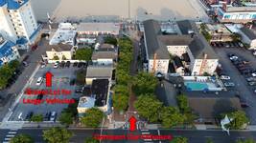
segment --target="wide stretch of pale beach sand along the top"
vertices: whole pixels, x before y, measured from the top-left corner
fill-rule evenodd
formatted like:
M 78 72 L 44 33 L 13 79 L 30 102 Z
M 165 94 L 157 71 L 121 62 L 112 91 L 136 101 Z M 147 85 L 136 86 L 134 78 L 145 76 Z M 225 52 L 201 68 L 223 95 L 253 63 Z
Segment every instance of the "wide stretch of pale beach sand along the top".
M 49 12 L 55 21 L 114 19 L 204 19 L 197 0 L 32 0 L 38 20 Z

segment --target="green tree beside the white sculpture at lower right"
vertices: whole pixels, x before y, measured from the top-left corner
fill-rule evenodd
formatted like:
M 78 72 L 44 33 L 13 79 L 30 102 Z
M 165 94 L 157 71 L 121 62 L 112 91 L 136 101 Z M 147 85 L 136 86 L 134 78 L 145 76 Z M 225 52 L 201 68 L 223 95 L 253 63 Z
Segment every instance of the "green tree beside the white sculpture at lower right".
M 228 128 L 244 129 L 244 126 L 249 122 L 249 119 L 247 118 L 245 112 L 243 111 L 223 113 L 221 116 L 224 117 L 225 114 L 227 114 L 229 118 L 234 119 L 233 121 L 231 121 L 229 125 L 227 125 Z

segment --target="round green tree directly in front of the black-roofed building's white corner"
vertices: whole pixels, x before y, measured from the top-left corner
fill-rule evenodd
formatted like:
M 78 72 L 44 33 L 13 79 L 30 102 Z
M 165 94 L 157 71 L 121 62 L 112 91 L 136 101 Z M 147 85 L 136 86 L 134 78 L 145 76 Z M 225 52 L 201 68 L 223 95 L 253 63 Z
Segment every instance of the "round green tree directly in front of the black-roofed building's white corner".
M 81 124 L 86 127 L 97 128 L 100 126 L 104 115 L 104 112 L 99 109 L 91 108 L 85 112 L 84 116 L 81 117 Z

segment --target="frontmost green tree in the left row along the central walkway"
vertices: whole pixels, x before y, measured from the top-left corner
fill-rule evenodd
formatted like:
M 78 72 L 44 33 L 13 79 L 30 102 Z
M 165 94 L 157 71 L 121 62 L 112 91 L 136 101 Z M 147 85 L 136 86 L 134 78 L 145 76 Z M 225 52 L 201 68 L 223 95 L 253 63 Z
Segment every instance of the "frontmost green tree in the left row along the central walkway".
M 113 96 L 113 106 L 119 112 L 124 112 L 128 109 L 128 95 L 115 94 Z

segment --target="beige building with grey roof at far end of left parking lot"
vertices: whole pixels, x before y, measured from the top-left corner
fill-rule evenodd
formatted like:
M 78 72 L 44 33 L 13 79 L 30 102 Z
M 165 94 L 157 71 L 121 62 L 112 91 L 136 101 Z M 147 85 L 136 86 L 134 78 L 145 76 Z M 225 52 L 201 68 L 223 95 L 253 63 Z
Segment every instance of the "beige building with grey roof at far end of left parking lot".
M 58 60 L 71 60 L 75 52 L 75 47 L 71 45 L 58 44 L 51 46 L 51 50 L 46 51 L 48 60 L 58 57 Z

